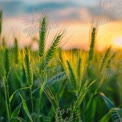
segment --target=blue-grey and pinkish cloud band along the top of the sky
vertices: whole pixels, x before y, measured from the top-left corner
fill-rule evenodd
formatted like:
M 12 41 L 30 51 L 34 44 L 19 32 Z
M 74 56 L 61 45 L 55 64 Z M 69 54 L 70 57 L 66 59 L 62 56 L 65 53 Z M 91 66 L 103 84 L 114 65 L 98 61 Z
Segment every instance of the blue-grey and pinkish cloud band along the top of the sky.
M 118 6 L 106 9 L 105 6 L 110 3 L 104 3 L 103 6 L 96 6 L 96 0 L 91 2 L 73 2 L 71 1 L 58 1 L 56 0 L 36 0 L 35 2 L 29 2 L 27 0 L 24 2 L 23 0 L 19 1 L 1 1 L 0 8 L 3 9 L 4 14 L 7 17 L 11 16 L 22 16 L 25 14 L 42 14 L 46 11 L 47 14 L 51 18 L 54 18 L 57 21 L 65 21 L 65 20 L 82 20 L 80 17 L 81 13 L 84 16 L 105 16 L 112 20 L 121 20 L 122 19 L 122 9 Z M 121 6 L 121 3 L 119 3 Z M 87 5 L 87 6 L 84 6 Z M 94 6 L 93 6 L 94 5 Z M 114 4 L 115 5 L 115 4 Z M 117 6 L 117 5 L 116 5 Z M 62 14 L 63 13 L 63 14 Z

